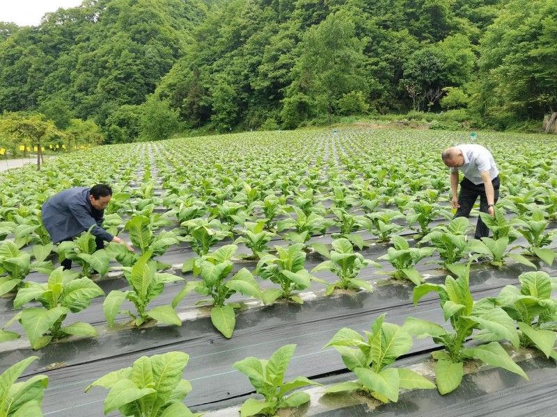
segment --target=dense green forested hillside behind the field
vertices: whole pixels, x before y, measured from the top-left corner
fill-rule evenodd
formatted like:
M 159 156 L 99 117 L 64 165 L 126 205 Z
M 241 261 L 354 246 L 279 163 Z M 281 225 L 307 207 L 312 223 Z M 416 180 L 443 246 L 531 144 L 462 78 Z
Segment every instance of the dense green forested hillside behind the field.
M 91 0 L 0 29 L 0 111 L 92 119 L 107 142 L 557 110 L 557 0 Z

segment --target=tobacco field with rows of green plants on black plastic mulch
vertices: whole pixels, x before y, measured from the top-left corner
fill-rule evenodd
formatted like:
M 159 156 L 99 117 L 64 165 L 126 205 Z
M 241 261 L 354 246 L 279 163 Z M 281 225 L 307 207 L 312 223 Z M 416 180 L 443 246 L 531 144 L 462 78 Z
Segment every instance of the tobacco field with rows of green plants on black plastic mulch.
M 480 133 L 482 240 L 441 161 L 467 141 L 253 132 L 1 173 L 0 416 L 552 414 L 557 140 Z M 135 252 L 50 242 L 42 204 L 95 183 Z

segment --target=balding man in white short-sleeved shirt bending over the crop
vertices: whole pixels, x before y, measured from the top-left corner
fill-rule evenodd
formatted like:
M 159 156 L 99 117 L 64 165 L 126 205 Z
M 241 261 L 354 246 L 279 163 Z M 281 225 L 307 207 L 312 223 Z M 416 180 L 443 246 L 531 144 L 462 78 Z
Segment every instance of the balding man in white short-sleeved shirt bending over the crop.
M 450 167 L 451 204 L 457 209 L 455 218 L 468 217 L 476 199 L 480 196 L 480 211 L 495 217 L 495 203 L 499 199 L 499 170 L 492 154 L 481 145 L 457 145 L 445 149 L 441 154 L 445 165 Z M 458 190 L 458 170 L 464 174 Z M 476 234 L 480 239 L 489 236 L 489 229 L 478 218 Z

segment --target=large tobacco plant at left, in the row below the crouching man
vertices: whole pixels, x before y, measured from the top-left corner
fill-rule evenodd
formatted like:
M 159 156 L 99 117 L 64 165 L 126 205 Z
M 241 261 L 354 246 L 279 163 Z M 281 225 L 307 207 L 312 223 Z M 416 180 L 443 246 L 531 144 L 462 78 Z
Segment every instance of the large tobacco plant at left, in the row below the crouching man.
M 79 313 L 91 304 L 93 298 L 104 295 L 104 291 L 91 279 L 78 276 L 77 272 L 59 267 L 52 271 L 46 284 L 27 282 L 17 292 L 14 308 L 20 309 L 31 300 L 37 300 L 43 308 L 29 307 L 19 311 L 5 327 L 19 320 L 33 349 L 45 347 L 51 341 L 70 334 L 97 336 L 95 328 L 88 323 L 62 325 L 68 313 Z

